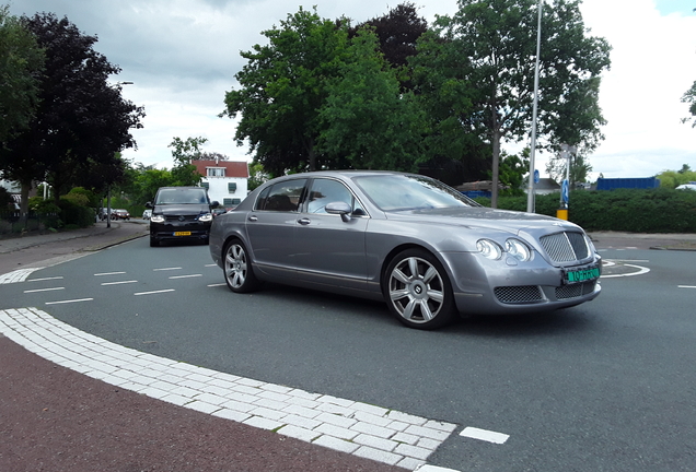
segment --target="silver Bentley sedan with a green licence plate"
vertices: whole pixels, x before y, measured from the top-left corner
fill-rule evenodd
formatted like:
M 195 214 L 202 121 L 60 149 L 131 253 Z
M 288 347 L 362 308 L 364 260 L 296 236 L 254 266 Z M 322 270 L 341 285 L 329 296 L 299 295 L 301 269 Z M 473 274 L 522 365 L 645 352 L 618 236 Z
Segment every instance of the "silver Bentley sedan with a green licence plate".
M 210 255 L 232 292 L 268 281 L 383 299 L 419 329 L 570 307 L 601 291 L 602 259 L 578 225 L 484 208 L 395 172 L 269 180 L 213 220 Z

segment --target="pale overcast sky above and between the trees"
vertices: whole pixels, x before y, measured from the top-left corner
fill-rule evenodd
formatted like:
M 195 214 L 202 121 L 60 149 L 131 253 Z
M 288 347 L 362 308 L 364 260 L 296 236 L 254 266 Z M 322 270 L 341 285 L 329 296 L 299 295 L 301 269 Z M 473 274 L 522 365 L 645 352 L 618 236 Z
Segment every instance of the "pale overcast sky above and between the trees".
M 0 0 L 0 3 L 7 2 Z M 137 150 L 124 156 L 172 167 L 174 137 L 205 137 L 205 151 L 251 160 L 235 145 L 235 122 L 218 118 L 224 93 L 244 66 L 240 51 L 264 43 L 260 32 L 279 25 L 302 5 L 325 19 L 355 23 L 381 16 L 401 0 L 11 0 L 12 14 L 53 12 L 83 33 L 123 71 L 124 96 L 146 108 L 144 128 L 134 130 Z M 453 14 L 456 0 L 414 0 L 429 22 Z M 696 169 L 696 129 L 683 125 L 680 98 L 696 81 L 696 0 L 584 0 L 591 34 L 612 45 L 600 104 L 608 125 L 605 141 L 590 156 L 593 175 L 647 177 L 664 169 Z M 531 32 L 531 34 L 536 34 Z M 543 47 L 543 44 L 542 44 Z M 514 152 L 515 149 L 510 148 Z M 545 156 L 537 157 L 544 173 Z

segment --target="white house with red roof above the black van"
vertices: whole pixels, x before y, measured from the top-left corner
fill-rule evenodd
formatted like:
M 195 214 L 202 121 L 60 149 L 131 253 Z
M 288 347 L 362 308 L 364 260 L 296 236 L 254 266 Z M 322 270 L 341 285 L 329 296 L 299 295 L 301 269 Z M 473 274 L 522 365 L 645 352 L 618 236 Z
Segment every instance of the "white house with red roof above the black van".
M 208 189 L 210 200 L 217 200 L 225 209 L 232 209 L 246 198 L 248 164 L 239 161 L 193 161 L 202 176 L 201 187 Z

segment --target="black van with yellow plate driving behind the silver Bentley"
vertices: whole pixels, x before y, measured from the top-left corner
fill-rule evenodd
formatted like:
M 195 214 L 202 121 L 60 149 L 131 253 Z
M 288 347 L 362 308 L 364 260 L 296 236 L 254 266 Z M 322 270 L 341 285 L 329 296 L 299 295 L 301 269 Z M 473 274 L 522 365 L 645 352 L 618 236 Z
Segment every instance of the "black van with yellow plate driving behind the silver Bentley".
M 146 203 L 146 208 L 152 209 L 150 246 L 159 246 L 165 239 L 208 244 L 211 211 L 218 205 L 217 201 L 210 201 L 202 187 L 161 187 L 154 203 Z

